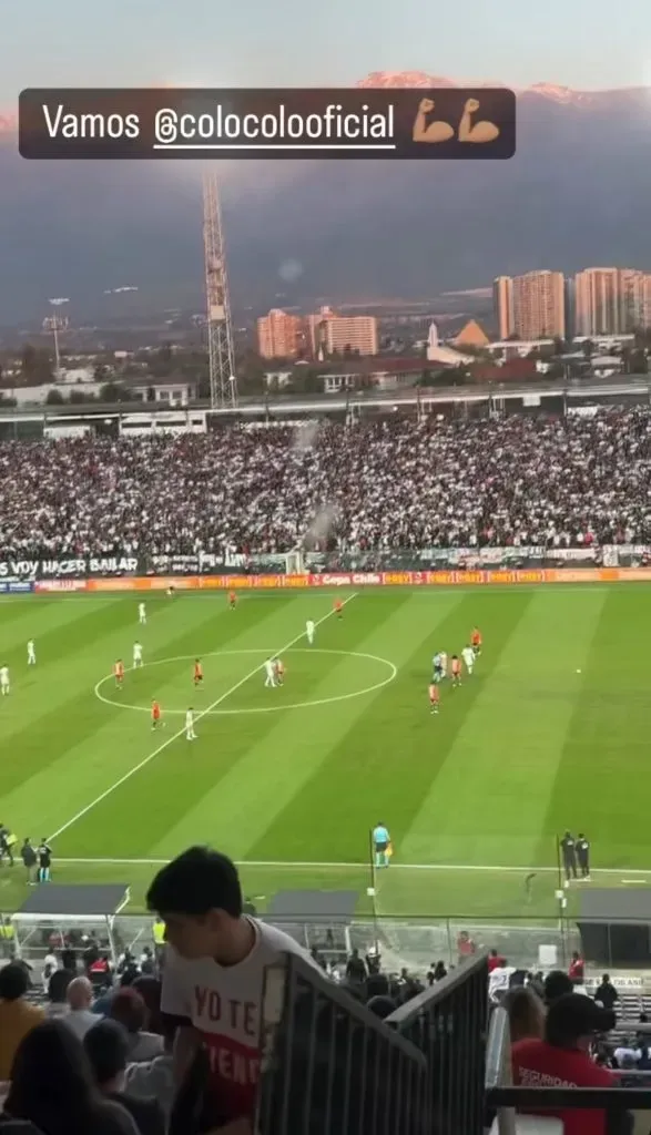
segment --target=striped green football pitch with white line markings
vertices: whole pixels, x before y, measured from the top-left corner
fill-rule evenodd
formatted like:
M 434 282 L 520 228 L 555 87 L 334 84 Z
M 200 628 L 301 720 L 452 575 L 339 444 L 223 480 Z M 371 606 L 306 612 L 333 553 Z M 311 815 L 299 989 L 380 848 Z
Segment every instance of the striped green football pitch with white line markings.
M 359 892 L 360 914 L 551 918 L 566 827 L 592 841 L 593 883 L 651 881 L 650 588 L 337 596 L 341 620 L 326 589 L 250 592 L 235 611 L 214 592 L 1 598 L 0 821 L 51 838 L 57 882 L 128 883 L 133 910 L 157 864 L 198 842 L 241 865 L 261 909 L 319 888 Z M 476 671 L 444 683 L 434 717 L 432 656 L 460 654 L 475 625 Z M 281 689 L 264 684 L 270 654 Z M 394 857 L 373 900 L 378 822 Z M 19 863 L 3 865 L 0 910 L 26 893 Z

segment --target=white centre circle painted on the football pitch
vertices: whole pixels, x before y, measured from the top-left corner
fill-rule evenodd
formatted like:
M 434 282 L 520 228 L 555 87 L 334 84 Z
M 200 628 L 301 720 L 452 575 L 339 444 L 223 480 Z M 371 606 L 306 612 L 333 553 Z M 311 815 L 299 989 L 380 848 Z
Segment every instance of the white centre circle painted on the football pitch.
M 384 666 L 385 670 L 387 671 L 387 674 L 385 678 L 382 679 L 382 681 L 374 682 L 372 686 L 365 686 L 360 690 L 351 690 L 349 693 L 336 693 L 327 698 L 314 698 L 311 700 L 306 700 L 306 701 L 295 701 L 292 704 L 283 703 L 281 705 L 272 705 L 272 706 L 241 706 L 234 709 L 217 708 L 216 707 L 217 701 L 219 700 L 226 701 L 229 695 L 241 689 L 241 687 L 244 686 L 249 679 L 252 681 L 258 673 L 261 674 L 265 665 L 265 663 L 261 662 L 260 665 L 256 667 L 254 671 L 251 671 L 250 674 L 244 676 L 244 679 L 240 679 L 240 681 L 236 682 L 231 690 L 224 690 L 223 693 L 220 695 L 220 698 L 216 698 L 215 703 L 212 703 L 212 705 L 215 705 L 215 708 L 211 708 L 210 706 L 207 709 L 199 708 L 197 709 L 197 716 L 226 717 L 226 716 L 236 716 L 243 714 L 279 713 L 283 709 L 308 709 L 310 707 L 331 705 L 332 703 L 335 701 L 350 701 L 352 698 L 361 698 L 366 693 L 375 693 L 376 690 L 381 690 L 383 689 L 383 687 L 389 686 L 390 682 L 392 682 L 398 675 L 398 666 L 395 666 L 387 658 L 381 658 L 378 655 L 375 654 L 362 654 L 357 650 L 325 650 L 318 647 L 303 647 L 303 648 L 290 647 L 287 650 L 282 650 L 279 653 L 283 654 L 285 657 L 295 654 L 331 654 L 331 655 L 339 655 L 342 658 L 361 658 L 366 662 L 372 662 L 375 663 L 376 665 Z M 203 654 L 200 653 L 200 655 L 182 654 L 173 658 L 157 658 L 153 662 L 143 663 L 142 666 L 137 667 L 135 666 L 125 667 L 125 673 L 133 674 L 136 671 L 140 673 L 140 671 L 143 670 L 151 670 L 153 666 L 166 666 L 176 662 L 194 662 L 194 659 L 199 656 L 202 658 L 220 658 L 234 655 L 258 655 L 258 656 L 264 656 L 265 658 L 269 658 L 276 656 L 277 654 L 278 654 L 277 650 L 261 650 L 261 649 L 209 650 Z M 102 693 L 102 687 L 106 686 L 107 682 L 110 682 L 111 679 L 112 674 L 107 674 L 105 678 L 101 678 L 99 682 L 97 682 L 93 692 L 99 701 L 103 701 L 105 705 L 109 706 L 118 706 L 118 708 L 120 709 L 133 709 L 137 713 L 149 714 L 151 712 L 150 706 L 132 705 L 130 703 L 123 701 L 122 699 L 110 698 L 107 697 L 105 693 Z M 164 712 L 166 716 L 185 716 L 185 709 L 166 709 L 164 707 Z

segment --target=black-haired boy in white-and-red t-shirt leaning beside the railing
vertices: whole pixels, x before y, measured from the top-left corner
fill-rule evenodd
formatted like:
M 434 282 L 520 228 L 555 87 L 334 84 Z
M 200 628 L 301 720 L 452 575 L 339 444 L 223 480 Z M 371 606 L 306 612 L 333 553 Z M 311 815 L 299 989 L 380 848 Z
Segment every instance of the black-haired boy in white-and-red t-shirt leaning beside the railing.
M 161 1011 L 178 1026 L 177 1084 L 198 1048 L 210 1067 L 215 1127 L 253 1117 L 265 972 L 284 953 L 315 966 L 292 938 L 243 914 L 235 865 L 190 848 L 153 880 L 147 902 L 166 924 Z

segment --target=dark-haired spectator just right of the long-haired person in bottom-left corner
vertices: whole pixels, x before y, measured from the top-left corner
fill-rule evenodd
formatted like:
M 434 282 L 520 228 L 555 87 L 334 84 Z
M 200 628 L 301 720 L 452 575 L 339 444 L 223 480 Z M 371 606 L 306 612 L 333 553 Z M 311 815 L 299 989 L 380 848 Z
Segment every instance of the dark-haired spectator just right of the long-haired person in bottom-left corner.
M 149 1099 L 132 1096 L 125 1090 L 130 1041 L 123 1025 L 117 1020 L 98 1022 L 86 1033 L 84 1048 L 102 1095 L 122 1103 L 141 1135 L 165 1135 L 165 1117 L 158 1100 L 153 1095 Z

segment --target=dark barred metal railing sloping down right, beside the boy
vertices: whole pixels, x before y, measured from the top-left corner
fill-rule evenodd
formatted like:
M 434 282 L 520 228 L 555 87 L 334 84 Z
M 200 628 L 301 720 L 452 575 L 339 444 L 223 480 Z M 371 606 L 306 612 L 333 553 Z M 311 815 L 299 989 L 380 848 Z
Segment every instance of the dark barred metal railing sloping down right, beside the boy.
M 267 970 L 260 1049 L 260 1135 L 432 1132 L 423 1051 L 293 955 Z

